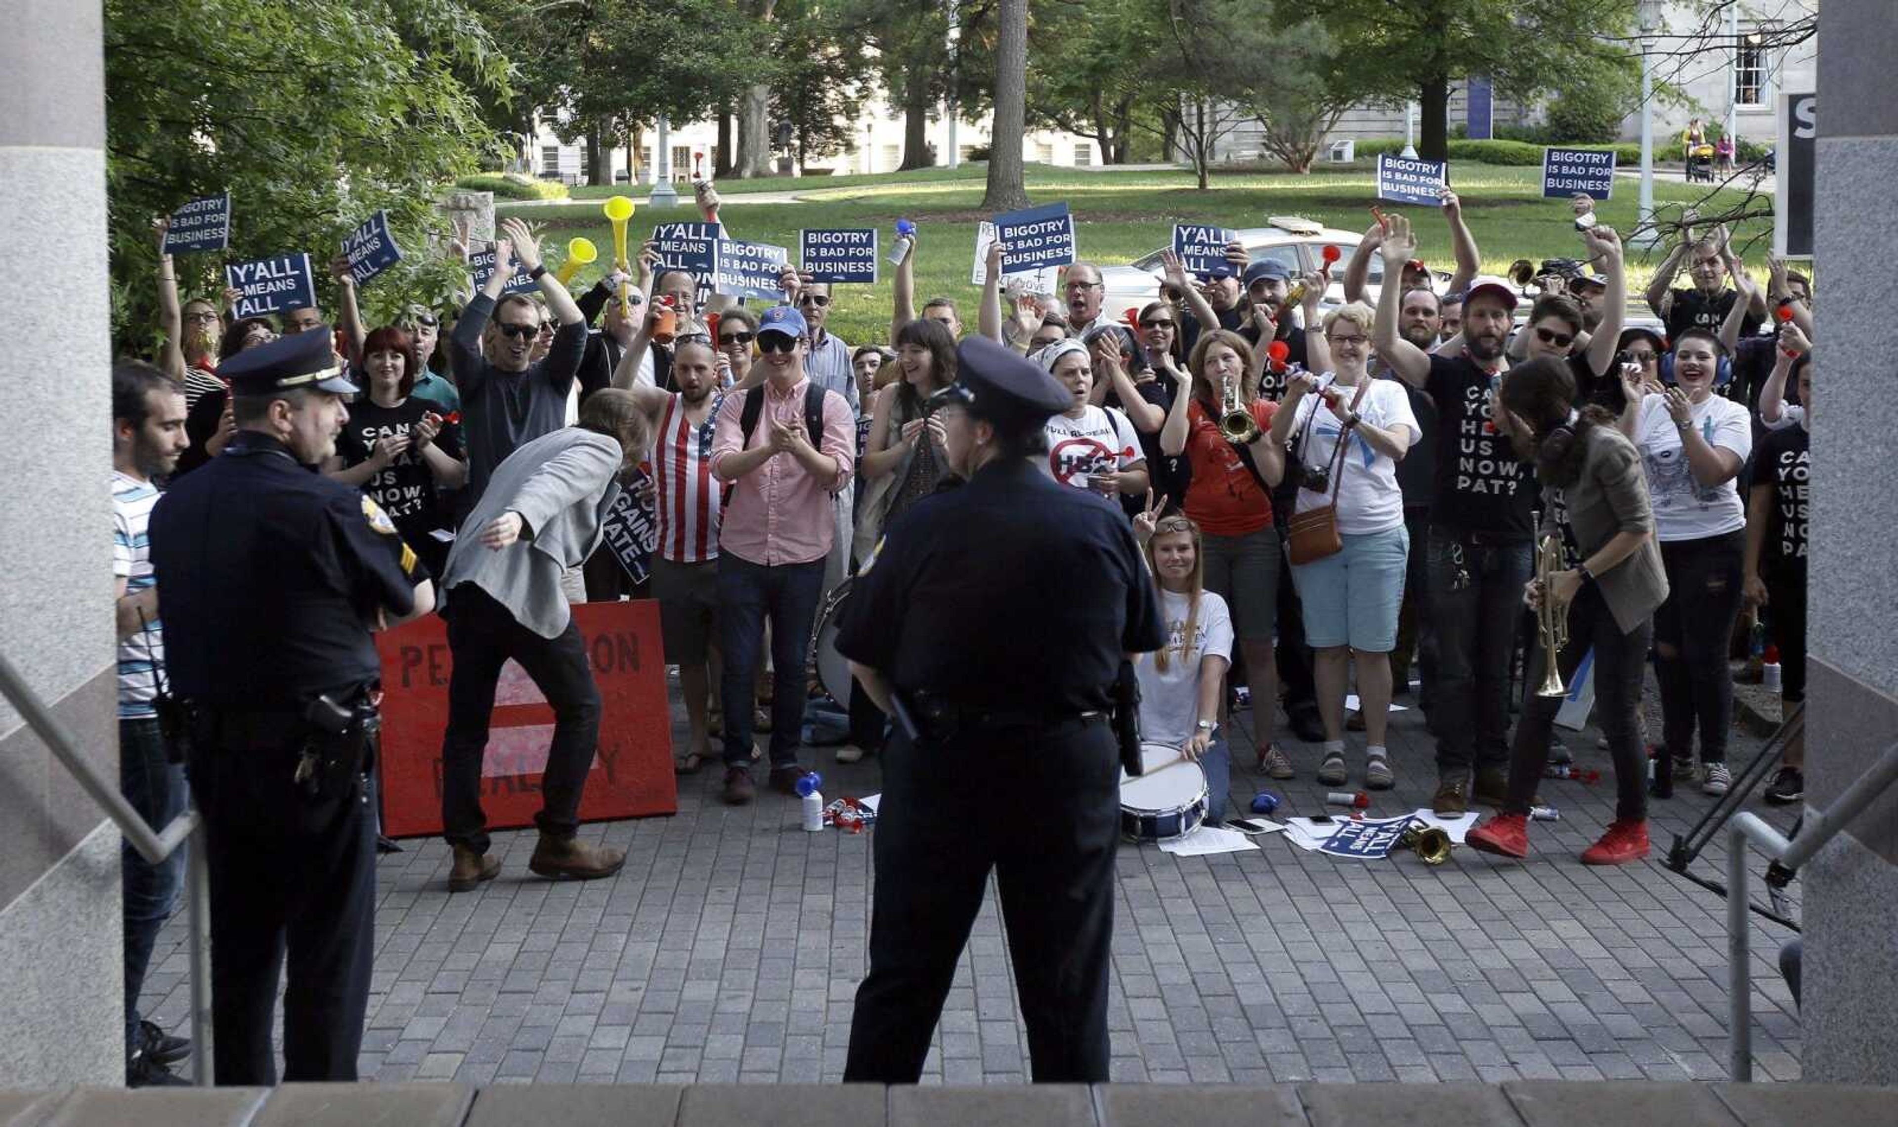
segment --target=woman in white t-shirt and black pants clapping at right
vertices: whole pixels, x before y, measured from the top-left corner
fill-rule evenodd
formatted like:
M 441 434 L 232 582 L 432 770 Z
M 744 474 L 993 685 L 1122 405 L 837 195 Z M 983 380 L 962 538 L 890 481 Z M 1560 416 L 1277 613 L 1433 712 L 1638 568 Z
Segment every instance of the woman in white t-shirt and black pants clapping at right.
M 1663 744 L 1672 759 L 1663 770 L 1668 780 L 1674 770 L 1691 770 L 1699 727 L 1701 789 L 1708 795 L 1725 795 L 1733 785 L 1727 639 L 1740 613 L 1746 560 L 1746 508 L 1735 476 L 1754 448 L 1746 406 L 1714 395 L 1723 357 L 1712 332 L 1682 332 L 1674 342 L 1674 387 L 1655 391 L 1625 378 L 1628 406 L 1621 412 L 1621 433 L 1634 440 L 1647 471 L 1668 584 L 1668 598 L 1655 611 Z

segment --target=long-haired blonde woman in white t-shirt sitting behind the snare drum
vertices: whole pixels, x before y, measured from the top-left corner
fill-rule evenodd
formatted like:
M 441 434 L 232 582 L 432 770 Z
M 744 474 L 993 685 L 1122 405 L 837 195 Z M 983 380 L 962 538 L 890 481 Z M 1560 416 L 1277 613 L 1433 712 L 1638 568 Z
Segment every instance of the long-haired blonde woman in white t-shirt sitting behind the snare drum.
M 1133 535 L 1146 550 L 1146 567 L 1167 626 L 1165 647 L 1133 660 L 1141 681 L 1141 738 L 1169 744 L 1205 770 L 1205 823 L 1226 820 L 1232 753 L 1219 732 L 1219 706 L 1232 664 L 1232 615 L 1226 600 L 1205 590 L 1200 526 L 1186 516 L 1160 516 L 1148 507 L 1133 518 Z

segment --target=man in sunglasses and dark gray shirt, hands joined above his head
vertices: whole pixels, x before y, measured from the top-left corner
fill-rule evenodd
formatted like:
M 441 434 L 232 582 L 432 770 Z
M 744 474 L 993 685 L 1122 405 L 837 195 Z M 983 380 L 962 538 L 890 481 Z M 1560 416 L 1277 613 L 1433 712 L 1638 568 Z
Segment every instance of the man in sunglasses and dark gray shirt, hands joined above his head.
M 501 220 L 501 235 L 488 285 L 474 294 L 448 338 L 456 389 L 461 393 L 469 505 L 480 501 L 488 476 L 514 448 L 568 425 L 568 395 L 586 353 L 586 319 L 554 271 L 541 264 L 541 241 L 518 218 Z M 501 296 L 516 260 L 541 286 L 558 323 L 539 360 L 533 353 L 541 338 L 541 307 L 526 294 Z

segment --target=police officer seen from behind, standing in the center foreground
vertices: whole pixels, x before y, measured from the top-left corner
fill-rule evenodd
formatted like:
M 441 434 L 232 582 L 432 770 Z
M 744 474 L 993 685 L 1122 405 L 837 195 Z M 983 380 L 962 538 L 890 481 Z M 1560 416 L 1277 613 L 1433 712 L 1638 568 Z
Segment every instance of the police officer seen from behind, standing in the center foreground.
M 934 406 L 968 484 L 888 527 L 837 636 L 898 717 L 845 1080 L 922 1074 L 995 871 L 1033 1078 L 1105 1081 L 1120 841 L 1107 713 L 1126 656 L 1160 649 L 1160 611 L 1120 508 L 1034 461 L 1067 391 L 989 340 L 962 342 L 957 359 L 960 378 Z

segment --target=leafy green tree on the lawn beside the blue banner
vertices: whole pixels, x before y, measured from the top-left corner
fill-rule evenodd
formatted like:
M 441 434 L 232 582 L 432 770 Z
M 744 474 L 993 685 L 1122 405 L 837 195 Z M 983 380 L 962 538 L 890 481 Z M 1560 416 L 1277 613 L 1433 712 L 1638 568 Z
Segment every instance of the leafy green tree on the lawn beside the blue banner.
M 1334 51 L 1329 85 L 1357 101 L 1422 106 L 1418 154 L 1446 159 L 1450 85 L 1488 78 L 1505 97 L 1558 91 L 1627 59 L 1615 40 L 1636 0 L 1275 0 L 1281 19 L 1317 13 Z M 1625 42 L 1625 40 L 1623 40 Z

